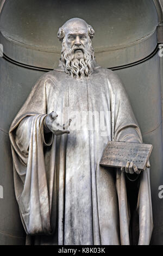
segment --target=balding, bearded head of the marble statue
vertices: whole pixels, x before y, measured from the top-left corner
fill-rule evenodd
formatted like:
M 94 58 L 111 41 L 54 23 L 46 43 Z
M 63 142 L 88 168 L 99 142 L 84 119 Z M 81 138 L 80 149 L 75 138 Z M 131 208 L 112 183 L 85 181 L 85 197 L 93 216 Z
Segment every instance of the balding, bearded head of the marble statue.
M 93 28 L 84 20 L 73 18 L 59 28 L 62 41 L 61 63 L 65 72 L 73 77 L 89 76 L 93 70 Z

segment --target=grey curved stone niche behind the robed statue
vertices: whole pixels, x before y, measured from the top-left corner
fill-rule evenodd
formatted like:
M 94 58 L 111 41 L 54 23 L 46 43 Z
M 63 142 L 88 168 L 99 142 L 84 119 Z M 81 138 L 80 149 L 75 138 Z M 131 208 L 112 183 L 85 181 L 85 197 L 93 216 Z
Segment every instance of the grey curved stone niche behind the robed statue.
M 6 0 L 1 1 L 0 40 L 0 244 L 22 245 L 26 234 L 14 193 L 8 130 L 36 80 L 58 65 L 58 28 L 80 17 L 95 29 L 97 62 L 115 70 L 132 102 L 143 141 L 153 144 L 151 190 L 154 230 L 151 243 L 163 244 L 161 72 L 157 27 L 161 1 Z M 161 60 L 162 61 L 162 60 Z M 162 64 L 161 64 L 162 65 Z M 162 66 L 161 66 L 162 67 Z

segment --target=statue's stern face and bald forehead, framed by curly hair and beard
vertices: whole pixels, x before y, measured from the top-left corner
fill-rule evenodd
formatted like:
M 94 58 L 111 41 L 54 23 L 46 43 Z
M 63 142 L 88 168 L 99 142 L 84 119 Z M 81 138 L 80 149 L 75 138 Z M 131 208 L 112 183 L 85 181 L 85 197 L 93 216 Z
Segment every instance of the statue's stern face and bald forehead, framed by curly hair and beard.
M 74 52 L 77 59 L 83 58 L 84 50 L 87 50 L 89 35 L 84 22 L 68 24 L 65 27 L 65 42 L 67 50 Z

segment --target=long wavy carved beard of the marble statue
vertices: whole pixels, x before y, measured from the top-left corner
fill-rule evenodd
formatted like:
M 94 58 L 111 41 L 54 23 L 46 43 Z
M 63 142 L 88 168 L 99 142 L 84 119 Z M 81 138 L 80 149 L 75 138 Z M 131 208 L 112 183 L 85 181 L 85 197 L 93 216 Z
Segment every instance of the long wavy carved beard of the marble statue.
M 81 78 L 83 76 L 90 76 L 93 71 L 94 50 L 92 48 L 91 39 L 89 40 L 87 50 L 82 47 L 83 58 L 76 58 L 74 56 L 74 48 L 66 49 L 65 38 L 62 41 L 61 62 L 65 72 L 73 77 Z M 80 47 L 81 48 L 81 47 Z

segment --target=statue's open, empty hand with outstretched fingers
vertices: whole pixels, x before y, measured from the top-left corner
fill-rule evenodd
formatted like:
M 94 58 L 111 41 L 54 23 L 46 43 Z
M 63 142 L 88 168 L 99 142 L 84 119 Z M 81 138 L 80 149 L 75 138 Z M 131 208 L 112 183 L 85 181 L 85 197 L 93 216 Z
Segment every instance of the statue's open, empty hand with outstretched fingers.
M 60 125 L 59 123 L 57 123 L 57 117 L 58 114 L 56 112 L 51 112 L 50 114 L 48 114 L 45 118 L 46 128 L 48 128 L 49 131 L 53 132 L 55 135 L 70 133 L 68 127 L 70 126 L 71 119 L 69 119 L 66 124 Z

